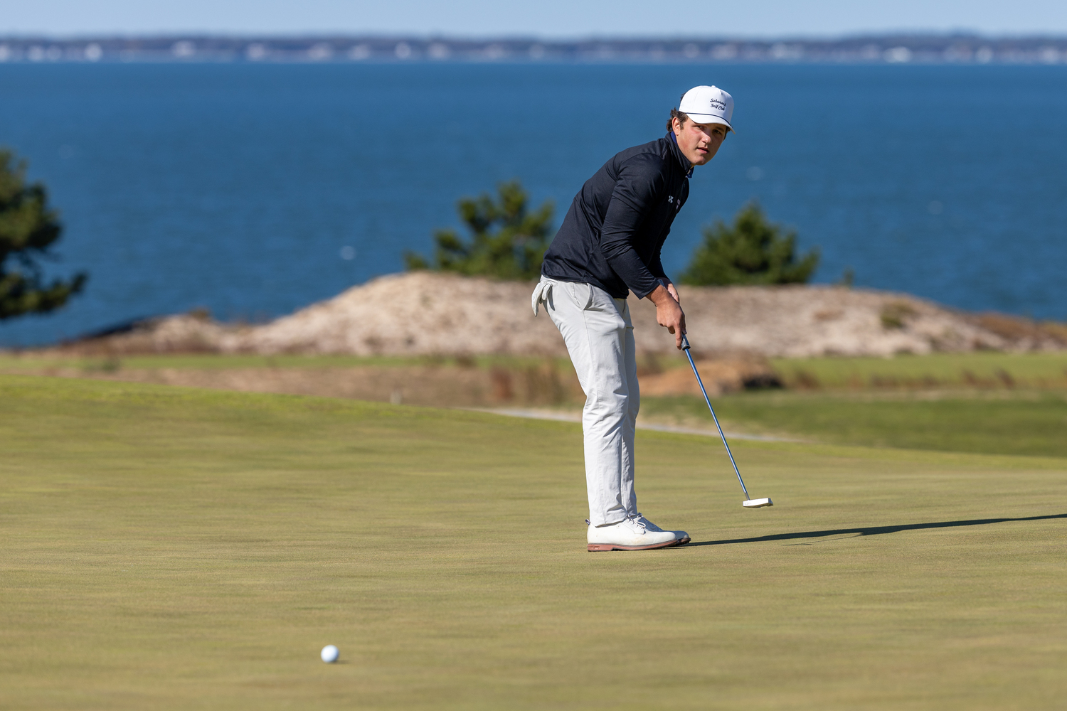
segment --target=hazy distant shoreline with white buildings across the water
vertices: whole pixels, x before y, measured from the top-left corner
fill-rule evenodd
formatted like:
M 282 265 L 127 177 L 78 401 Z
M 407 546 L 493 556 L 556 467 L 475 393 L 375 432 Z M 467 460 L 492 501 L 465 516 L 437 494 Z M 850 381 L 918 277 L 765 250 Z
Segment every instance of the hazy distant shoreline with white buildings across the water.
M 1067 35 L 869 34 L 815 37 L 426 35 L 84 35 L 0 37 L 0 63 L 827 63 L 1067 64 Z

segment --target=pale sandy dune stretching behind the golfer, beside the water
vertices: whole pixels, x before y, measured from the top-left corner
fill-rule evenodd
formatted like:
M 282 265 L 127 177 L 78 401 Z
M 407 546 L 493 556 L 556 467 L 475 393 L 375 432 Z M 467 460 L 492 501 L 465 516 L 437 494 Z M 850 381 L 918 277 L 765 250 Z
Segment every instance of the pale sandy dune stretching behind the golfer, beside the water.
M 260 326 L 174 316 L 68 349 L 108 353 L 218 352 L 352 355 L 566 355 L 531 284 L 453 274 L 394 274 Z M 1067 326 L 975 314 L 908 294 L 828 286 L 687 287 L 694 349 L 761 356 L 870 355 L 1067 348 Z M 666 354 L 673 338 L 655 308 L 631 296 L 638 352 Z

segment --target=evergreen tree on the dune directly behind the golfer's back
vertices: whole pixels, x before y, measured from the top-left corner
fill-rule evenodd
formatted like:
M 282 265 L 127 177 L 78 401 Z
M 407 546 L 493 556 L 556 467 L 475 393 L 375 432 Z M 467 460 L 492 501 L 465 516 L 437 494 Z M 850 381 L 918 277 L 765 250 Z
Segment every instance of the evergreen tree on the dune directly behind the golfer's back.
M 457 211 L 471 232 L 463 241 L 455 230 L 433 233 L 437 248 L 434 262 L 419 254 L 404 253 L 409 270 L 432 269 L 439 272 L 493 276 L 498 279 L 536 279 L 548 248 L 553 205 L 545 201 L 537 211 L 526 211 L 526 191 L 517 180 L 497 185 L 498 199 L 487 193 L 477 198 L 464 197 Z M 495 231 L 491 231 L 497 226 Z

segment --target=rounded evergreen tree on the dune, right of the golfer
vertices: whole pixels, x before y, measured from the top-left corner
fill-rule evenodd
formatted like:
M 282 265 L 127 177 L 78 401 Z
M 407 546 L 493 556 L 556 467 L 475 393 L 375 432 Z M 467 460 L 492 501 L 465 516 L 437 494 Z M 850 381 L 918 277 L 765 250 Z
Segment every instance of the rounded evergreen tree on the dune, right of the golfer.
M 799 260 L 797 235 L 767 222 L 757 203 L 749 203 L 728 227 L 721 220 L 704 228 L 704 241 L 692 253 L 682 284 L 803 284 L 818 265 L 818 249 Z

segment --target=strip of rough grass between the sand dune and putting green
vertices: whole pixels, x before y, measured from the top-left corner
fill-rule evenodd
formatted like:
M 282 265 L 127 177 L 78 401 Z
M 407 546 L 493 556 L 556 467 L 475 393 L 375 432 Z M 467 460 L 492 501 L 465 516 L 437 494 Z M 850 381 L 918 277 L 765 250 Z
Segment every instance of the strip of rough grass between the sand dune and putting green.
M 688 370 L 688 362 L 679 354 L 642 361 L 648 372 L 675 367 Z M 1067 456 L 1067 353 L 781 359 L 774 367 L 786 390 L 717 400 L 732 430 L 840 445 Z M 583 401 L 566 359 L 509 356 L 9 354 L 0 355 L 4 372 L 382 400 L 399 390 L 404 402 L 442 406 L 576 410 Z M 392 373 L 398 375 L 389 381 Z M 696 397 L 643 398 L 641 413 L 652 423 L 713 427 Z

